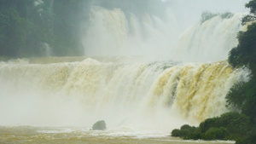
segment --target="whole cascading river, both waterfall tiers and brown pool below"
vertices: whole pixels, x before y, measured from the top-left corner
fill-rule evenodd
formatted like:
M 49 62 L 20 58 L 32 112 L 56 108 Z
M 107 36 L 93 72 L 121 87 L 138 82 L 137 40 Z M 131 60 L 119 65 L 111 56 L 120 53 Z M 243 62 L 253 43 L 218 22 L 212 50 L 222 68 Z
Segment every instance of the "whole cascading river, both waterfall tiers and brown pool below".
M 181 141 L 170 132 L 229 111 L 225 95 L 248 75 L 226 60 L 245 29 L 242 14 L 178 32 L 155 16 L 90 13 L 84 51 L 108 56 L 0 62 L 0 143 L 234 143 Z M 107 130 L 90 130 L 98 120 Z

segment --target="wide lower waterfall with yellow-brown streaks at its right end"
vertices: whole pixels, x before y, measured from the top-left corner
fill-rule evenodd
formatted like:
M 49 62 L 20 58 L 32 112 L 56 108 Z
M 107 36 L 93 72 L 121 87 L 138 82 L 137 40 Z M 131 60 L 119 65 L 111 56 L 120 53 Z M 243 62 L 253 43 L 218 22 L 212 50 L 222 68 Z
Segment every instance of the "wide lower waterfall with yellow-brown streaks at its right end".
M 225 95 L 245 73 L 226 61 L 1 63 L 0 124 L 198 124 L 228 111 Z

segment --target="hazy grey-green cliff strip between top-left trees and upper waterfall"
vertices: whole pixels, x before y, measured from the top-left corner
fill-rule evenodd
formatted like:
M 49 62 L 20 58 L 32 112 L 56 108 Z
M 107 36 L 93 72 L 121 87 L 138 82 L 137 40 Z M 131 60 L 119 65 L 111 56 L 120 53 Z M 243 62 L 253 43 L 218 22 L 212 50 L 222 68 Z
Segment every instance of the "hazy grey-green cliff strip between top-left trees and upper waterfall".
M 80 39 L 82 25 L 88 20 L 91 0 L 55 0 L 53 3 L 53 32 L 55 35 L 54 54 L 81 55 L 83 54 Z

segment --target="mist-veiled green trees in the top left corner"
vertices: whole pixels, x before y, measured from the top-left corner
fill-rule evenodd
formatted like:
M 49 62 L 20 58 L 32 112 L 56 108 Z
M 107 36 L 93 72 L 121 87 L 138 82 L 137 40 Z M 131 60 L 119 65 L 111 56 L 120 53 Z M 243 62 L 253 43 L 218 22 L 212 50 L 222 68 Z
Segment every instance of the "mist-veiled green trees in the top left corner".
M 0 53 L 10 57 L 38 55 L 41 43 L 51 43 L 51 15 L 36 0 L 0 1 Z

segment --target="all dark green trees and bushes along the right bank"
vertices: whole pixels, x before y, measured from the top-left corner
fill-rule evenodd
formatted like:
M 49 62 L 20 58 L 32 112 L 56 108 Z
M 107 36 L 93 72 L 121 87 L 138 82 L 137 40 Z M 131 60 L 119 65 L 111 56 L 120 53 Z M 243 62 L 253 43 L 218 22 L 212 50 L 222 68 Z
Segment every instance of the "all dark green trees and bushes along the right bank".
M 235 84 L 226 99 L 233 112 L 217 118 L 208 118 L 199 127 L 183 125 L 180 130 L 172 130 L 172 136 L 183 139 L 235 140 L 236 144 L 253 144 L 256 141 L 256 0 L 246 4 L 250 14 L 241 23 L 246 32 L 237 34 L 238 45 L 230 50 L 229 63 L 234 68 L 246 66 L 251 70 L 247 83 Z

